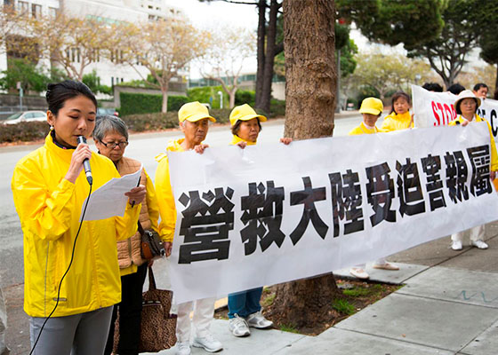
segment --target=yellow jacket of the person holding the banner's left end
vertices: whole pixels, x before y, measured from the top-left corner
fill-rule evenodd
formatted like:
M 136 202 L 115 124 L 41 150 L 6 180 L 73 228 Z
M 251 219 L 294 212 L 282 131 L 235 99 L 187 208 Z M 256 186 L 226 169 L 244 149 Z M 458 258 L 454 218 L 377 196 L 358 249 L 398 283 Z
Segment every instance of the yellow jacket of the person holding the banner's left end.
M 181 142 L 185 138 L 180 138 L 171 141 L 166 146 L 167 152 L 183 152 Z M 159 214 L 161 222 L 159 223 L 159 235 L 163 236 L 163 241 L 173 242 L 174 225 L 176 225 L 176 208 L 174 206 L 173 189 L 170 183 L 170 164 L 168 156 L 165 153 L 159 154 L 156 157 L 159 163 L 156 170 L 156 193 L 157 202 L 159 204 Z

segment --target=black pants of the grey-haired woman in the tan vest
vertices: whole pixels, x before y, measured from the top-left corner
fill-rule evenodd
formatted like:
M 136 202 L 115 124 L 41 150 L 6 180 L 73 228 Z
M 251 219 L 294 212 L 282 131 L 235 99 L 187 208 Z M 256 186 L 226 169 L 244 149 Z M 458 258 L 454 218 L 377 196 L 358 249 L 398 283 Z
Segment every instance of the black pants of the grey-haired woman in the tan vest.
M 119 355 L 137 355 L 141 332 L 141 293 L 147 274 L 147 263 L 137 272 L 121 277 L 121 303 L 115 304 L 104 355 L 110 355 L 114 343 L 114 323 L 119 312 Z

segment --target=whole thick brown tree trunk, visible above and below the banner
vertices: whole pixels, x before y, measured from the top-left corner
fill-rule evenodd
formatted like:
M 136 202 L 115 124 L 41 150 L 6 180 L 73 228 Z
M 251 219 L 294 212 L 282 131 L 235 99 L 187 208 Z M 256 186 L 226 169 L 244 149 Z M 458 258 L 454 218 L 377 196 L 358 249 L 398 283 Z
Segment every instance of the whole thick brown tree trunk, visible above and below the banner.
M 336 90 L 333 0 L 285 0 L 285 137 L 331 136 Z M 272 314 L 294 327 L 330 319 L 333 274 L 277 287 Z

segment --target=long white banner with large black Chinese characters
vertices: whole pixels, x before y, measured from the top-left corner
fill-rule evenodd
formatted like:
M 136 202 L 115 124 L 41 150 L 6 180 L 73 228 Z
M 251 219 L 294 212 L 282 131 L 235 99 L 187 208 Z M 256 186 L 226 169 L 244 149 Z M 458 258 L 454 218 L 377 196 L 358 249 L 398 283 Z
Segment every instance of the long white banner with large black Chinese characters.
M 484 122 L 168 155 L 179 303 L 374 261 L 497 219 Z

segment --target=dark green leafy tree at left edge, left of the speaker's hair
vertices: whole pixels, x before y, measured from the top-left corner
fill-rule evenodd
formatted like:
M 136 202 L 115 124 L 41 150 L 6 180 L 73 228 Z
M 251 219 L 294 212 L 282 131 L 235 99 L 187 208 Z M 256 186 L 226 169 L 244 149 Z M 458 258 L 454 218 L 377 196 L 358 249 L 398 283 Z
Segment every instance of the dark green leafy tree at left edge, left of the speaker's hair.
M 20 83 L 23 91 L 41 92 L 46 89 L 51 78 L 44 71 L 36 67 L 36 64 L 25 59 L 9 59 L 8 69 L 0 78 L 0 87 L 4 90 L 15 90 Z

